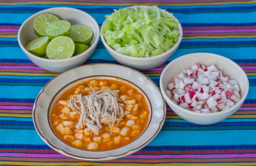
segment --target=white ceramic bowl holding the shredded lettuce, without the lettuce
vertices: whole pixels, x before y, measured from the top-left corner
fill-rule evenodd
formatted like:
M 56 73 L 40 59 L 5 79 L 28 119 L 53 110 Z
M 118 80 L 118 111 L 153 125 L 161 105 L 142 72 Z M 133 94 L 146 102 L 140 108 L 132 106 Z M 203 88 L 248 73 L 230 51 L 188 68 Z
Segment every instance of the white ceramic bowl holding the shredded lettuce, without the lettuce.
M 136 7 L 137 8 L 145 8 L 148 6 L 136 6 Z M 129 8 L 135 8 L 135 6 L 131 6 Z M 160 9 L 160 10 L 161 10 L 161 12 L 163 12 L 162 9 Z M 168 13 L 168 15 L 172 15 L 172 14 L 170 14 L 170 12 L 167 12 L 167 13 Z M 103 42 L 106 50 L 108 50 L 108 52 L 111 54 L 111 56 L 117 62 L 119 62 L 120 64 L 125 64 L 126 66 L 130 66 L 132 68 L 144 71 L 144 70 L 148 70 L 151 68 L 155 68 L 155 67 L 163 64 L 164 62 L 166 62 L 170 58 L 170 56 L 173 55 L 173 53 L 175 53 L 175 51 L 179 47 L 180 42 L 182 42 L 182 36 L 183 36 L 182 25 L 179 23 L 179 39 L 178 39 L 177 43 L 173 46 L 173 48 L 170 48 L 170 50 L 166 51 L 165 53 L 156 55 L 154 57 L 131 57 L 131 56 L 123 55 L 123 54 L 118 53 L 117 51 L 113 50 L 113 48 L 111 48 L 111 46 L 106 44 L 106 41 L 105 41 L 103 35 L 101 35 L 101 39 L 102 39 L 102 42 Z

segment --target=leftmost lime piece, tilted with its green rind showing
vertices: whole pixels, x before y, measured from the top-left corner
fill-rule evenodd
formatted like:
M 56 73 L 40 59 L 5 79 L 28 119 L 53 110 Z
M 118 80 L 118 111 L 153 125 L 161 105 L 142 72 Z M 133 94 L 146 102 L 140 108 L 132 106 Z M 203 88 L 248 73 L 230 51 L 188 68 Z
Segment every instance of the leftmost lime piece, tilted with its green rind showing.
M 45 55 L 46 53 L 46 48 L 49 42 L 49 37 L 39 37 L 26 45 L 26 50 L 29 50 L 33 55 L 42 57 L 42 55 Z

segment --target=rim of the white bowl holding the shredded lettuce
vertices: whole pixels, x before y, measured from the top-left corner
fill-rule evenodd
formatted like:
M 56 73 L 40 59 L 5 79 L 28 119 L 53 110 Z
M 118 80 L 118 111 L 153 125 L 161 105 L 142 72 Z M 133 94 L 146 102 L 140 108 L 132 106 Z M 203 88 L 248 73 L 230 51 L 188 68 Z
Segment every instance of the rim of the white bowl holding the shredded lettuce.
M 150 6 L 129 6 L 127 8 L 147 8 L 147 7 L 150 7 Z M 159 7 L 157 7 L 159 8 Z M 159 8 L 159 10 L 161 11 L 166 11 L 166 13 L 168 15 L 173 15 L 173 13 L 170 13 L 168 12 L 167 10 L 163 10 L 162 8 Z M 131 60 L 138 60 L 138 61 L 145 61 L 145 60 L 153 60 L 153 59 L 158 59 L 160 57 L 164 57 L 166 56 L 166 54 L 168 53 L 171 53 L 173 52 L 173 50 L 175 50 L 180 42 L 182 42 L 182 39 L 183 39 L 183 30 L 182 30 L 182 24 L 180 24 L 179 20 L 173 15 L 173 17 L 175 18 L 175 20 L 178 22 L 178 27 L 179 27 L 179 39 L 178 41 L 175 43 L 175 45 L 170 48 L 169 50 L 167 50 L 166 52 L 164 53 L 161 53 L 159 55 L 154 55 L 152 57 L 131 57 L 129 55 L 123 55 L 121 53 L 118 53 L 116 50 L 114 50 L 113 48 L 111 48 L 111 46 L 109 46 L 109 44 L 106 43 L 106 40 L 104 39 L 104 36 L 102 35 L 102 27 L 100 28 L 100 38 L 102 39 L 102 43 L 104 44 L 104 46 L 106 47 L 107 50 L 111 50 L 111 52 L 115 53 L 115 55 L 119 56 L 119 57 L 123 57 L 123 58 L 126 58 L 126 59 L 131 59 Z M 106 21 L 106 19 L 104 20 Z M 103 23 L 102 23 L 103 24 Z

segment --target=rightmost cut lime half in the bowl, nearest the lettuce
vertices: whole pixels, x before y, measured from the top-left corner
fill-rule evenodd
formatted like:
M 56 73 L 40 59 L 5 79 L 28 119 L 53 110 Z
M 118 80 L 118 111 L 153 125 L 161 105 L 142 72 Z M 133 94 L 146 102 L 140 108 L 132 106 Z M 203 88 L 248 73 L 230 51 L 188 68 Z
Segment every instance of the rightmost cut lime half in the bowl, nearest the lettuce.
M 93 30 L 88 26 L 74 25 L 71 26 L 70 37 L 74 42 L 89 44 L 93 38 Z

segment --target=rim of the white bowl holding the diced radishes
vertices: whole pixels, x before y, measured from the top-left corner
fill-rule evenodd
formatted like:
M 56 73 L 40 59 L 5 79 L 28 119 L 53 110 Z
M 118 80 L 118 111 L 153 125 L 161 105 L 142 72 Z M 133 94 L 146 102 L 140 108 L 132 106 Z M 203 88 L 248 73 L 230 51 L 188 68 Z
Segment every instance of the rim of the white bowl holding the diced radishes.
M 216 57 L 218 59 L 223 59 L 225 61 L 228 61 L 231 64 L 233 64 L 234 66 L 236 66 L 237 68 L 239 68 L 239 71 L 241 71 L 241 74 L 243 75 L 243 78 L 246 81 L 246 89 L 245 89 L 245 91 L 243 93 L 243 96 L 241 97 L 239 102 L 237 102 L 237 104 L 234 104 L 234 106 L 230 107 L 230 109 L 226 109 L 226 110 L 219 111 L 219 112 L 214 112 L 214 113 L 197 113 L 197 112 L 193 112 L 193 111 L 184 109 L 182 107 L 179 107 L 175 102 L 173 102 L 173 100 L 168 98 L 168 95 L 166 95 L 166 91 L 164 90 L 164 87 L 163 87 L 163 77 L 166 74 L 166 71 L 168 70 L 168 68 L 172 64 L 175 64 L 176 62 L 180 61 L 181 59 L 184 59 L 186 57 L 193 57 L 195 55 L 214 56 L 214 57 Z M 243 71 L 243 68 L 241 68 L 236 62 L 232 61 L 231 59 L 228 59 L 227 57 L 224 57 L 222 55 L 217 55 L 217 54 L 214 54 L 214 53 L 190 53 L 190 54 L 182 55 L 181 57 L 177 57 L 176 59 L 174 59 L 172 62 L 170 62 L 163 69 L 163 71 L 161 73 L 161 76 L 160 76 L 160 89 L 161 89 L 163 98 L 166 100 L 166 102 L 168 104 L 170 104 L 172 107 L 175 107 L 175 109 L 178 109 L 179 111 L 182 111 L 183 113 L 188 113 L 188 114 L 193 115 L 193 116 L 209 117 L 209 116 L 219 116 L 219 115 L 231 112 L 232 110 L 234 110 L 235 107 L 239 107 L 240 104 L 243 104 L 244 100 L 246 100 L 246 96 L 248 95 L 249 81 L 248 81 L 248 77 L 247 77 L 246 73 Z M 173 110 L 173 111 L 176 111 L 176 110 Z

